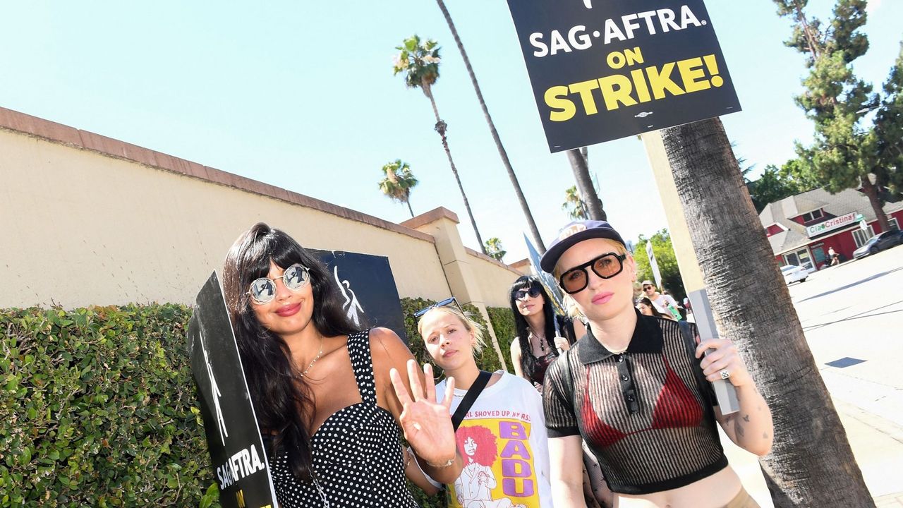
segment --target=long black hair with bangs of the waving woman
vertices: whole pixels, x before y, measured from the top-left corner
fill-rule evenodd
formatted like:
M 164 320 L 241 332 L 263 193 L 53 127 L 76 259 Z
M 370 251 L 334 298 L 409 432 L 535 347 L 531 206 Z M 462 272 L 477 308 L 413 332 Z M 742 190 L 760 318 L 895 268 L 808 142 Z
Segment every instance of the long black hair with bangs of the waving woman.
M 288 344 L 257 321 L 248 289 L 256 278 L 267 277 L 270 261 L 280 268 L 301 263 L 311 273 L 312 322 L 325 336 L 348 335 L 359 330 L 342 307 L 338 288 L 329 272 L 292 237 L 258 222 L 238 237 L 223 267 L 223 291 L 238 352 L 245 368 L 247 387 L 270 452 L 284 450 L 296 478 L 313 474 L 311 436 L 308 428 L 314 412 L 312 390 L 291 361 Z

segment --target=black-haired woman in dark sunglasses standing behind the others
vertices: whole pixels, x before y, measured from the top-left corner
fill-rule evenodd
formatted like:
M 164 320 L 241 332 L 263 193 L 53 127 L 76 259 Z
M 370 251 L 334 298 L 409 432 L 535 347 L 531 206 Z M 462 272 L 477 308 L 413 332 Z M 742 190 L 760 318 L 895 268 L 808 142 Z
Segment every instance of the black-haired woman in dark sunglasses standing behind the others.
M 542 283 L 533 276 L 514 281 L 509 297 L 517 332 L 511 341 L 514 372 L 542 388 L 545 369 L 575 340 L 573 320 L 554 314 Z

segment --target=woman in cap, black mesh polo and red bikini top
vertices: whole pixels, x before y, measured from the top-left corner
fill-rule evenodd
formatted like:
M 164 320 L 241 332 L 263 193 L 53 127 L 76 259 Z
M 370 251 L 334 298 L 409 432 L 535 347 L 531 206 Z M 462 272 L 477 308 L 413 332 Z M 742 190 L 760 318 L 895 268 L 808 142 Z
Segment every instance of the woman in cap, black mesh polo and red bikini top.
M 608 222 L 568 224 L 541 266 L 589 320 L 587 335 L 545 374 L 556 506 L 582 503 L 581 437 L 620 508 L 758 506 L 728 465 L 715 427 L 756 455 L 771 447 L 768 405 L 731 341 L 708 339 L 694 348 L 695 333 L 640 315 L 633 306 L 636 265 Z M 713 407 L 707 381 L 719 379 L 733 384 L 739 412 Z

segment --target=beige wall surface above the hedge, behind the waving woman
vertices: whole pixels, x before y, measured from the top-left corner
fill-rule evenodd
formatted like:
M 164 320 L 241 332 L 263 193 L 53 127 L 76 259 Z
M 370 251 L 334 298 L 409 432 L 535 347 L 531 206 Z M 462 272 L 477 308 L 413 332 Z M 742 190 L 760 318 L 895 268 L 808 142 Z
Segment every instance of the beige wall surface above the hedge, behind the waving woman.
M 433 239 L 422 233 L 0 129 L 0 307 L 192 303 L 256 221 L 305 247 L 387 256 L 400 296 L 450 294 Z

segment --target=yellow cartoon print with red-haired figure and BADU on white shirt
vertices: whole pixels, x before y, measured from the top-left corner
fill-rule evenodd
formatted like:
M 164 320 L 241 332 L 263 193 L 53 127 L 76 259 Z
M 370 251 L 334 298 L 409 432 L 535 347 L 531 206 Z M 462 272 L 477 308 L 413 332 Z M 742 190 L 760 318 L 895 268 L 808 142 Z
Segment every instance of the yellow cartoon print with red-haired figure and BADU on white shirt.
M 453 508 L 526 508 L 538 500 L 530 424 L 464 420 L 455 433 L 464 468 L 452 485 Z

